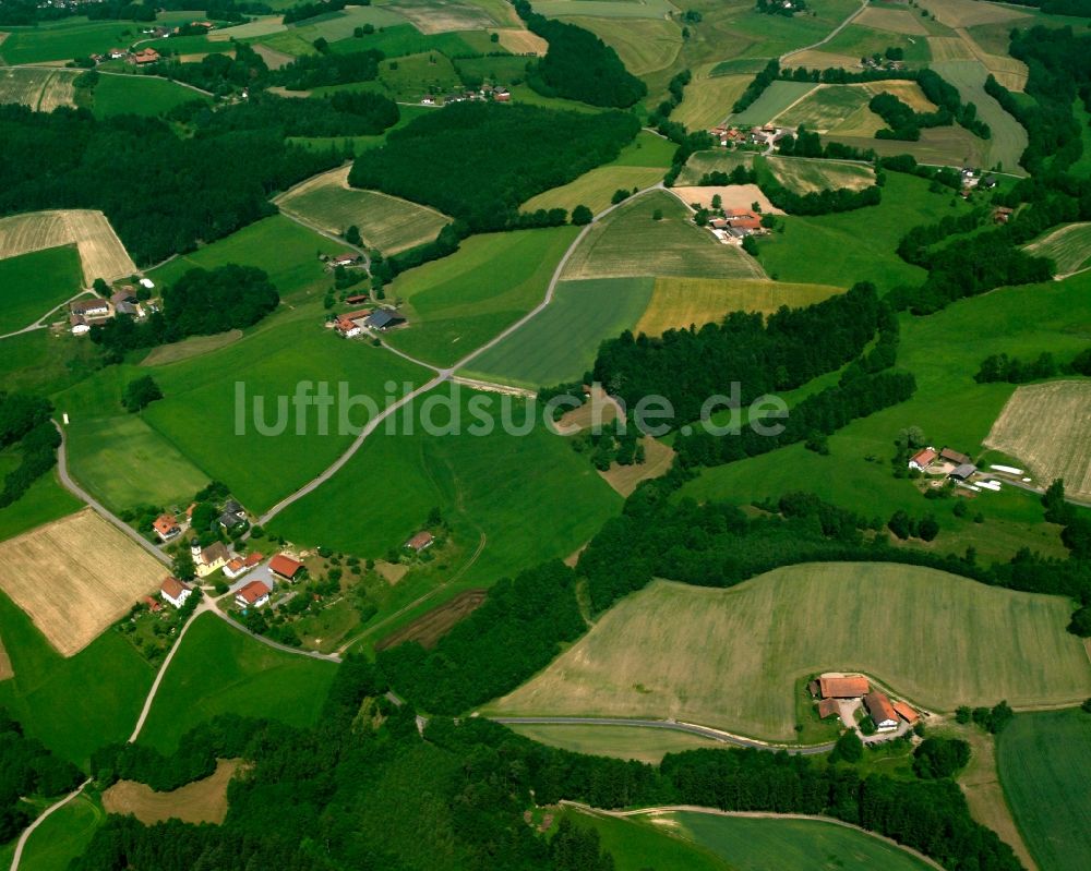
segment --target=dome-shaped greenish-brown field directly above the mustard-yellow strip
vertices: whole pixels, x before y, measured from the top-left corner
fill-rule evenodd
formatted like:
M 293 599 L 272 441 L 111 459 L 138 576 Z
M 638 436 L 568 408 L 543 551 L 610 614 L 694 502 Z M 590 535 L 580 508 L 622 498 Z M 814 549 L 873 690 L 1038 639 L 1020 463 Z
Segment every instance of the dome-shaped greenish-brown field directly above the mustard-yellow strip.
M 662 214 L 660 220 L 654 218 L 657 211 Z M 654 191 L 596 222 L 572 253 L 562 277 L 625 276 L 764 278 L 765 273 L 740 249 L 696 227 L 678 198 Z

